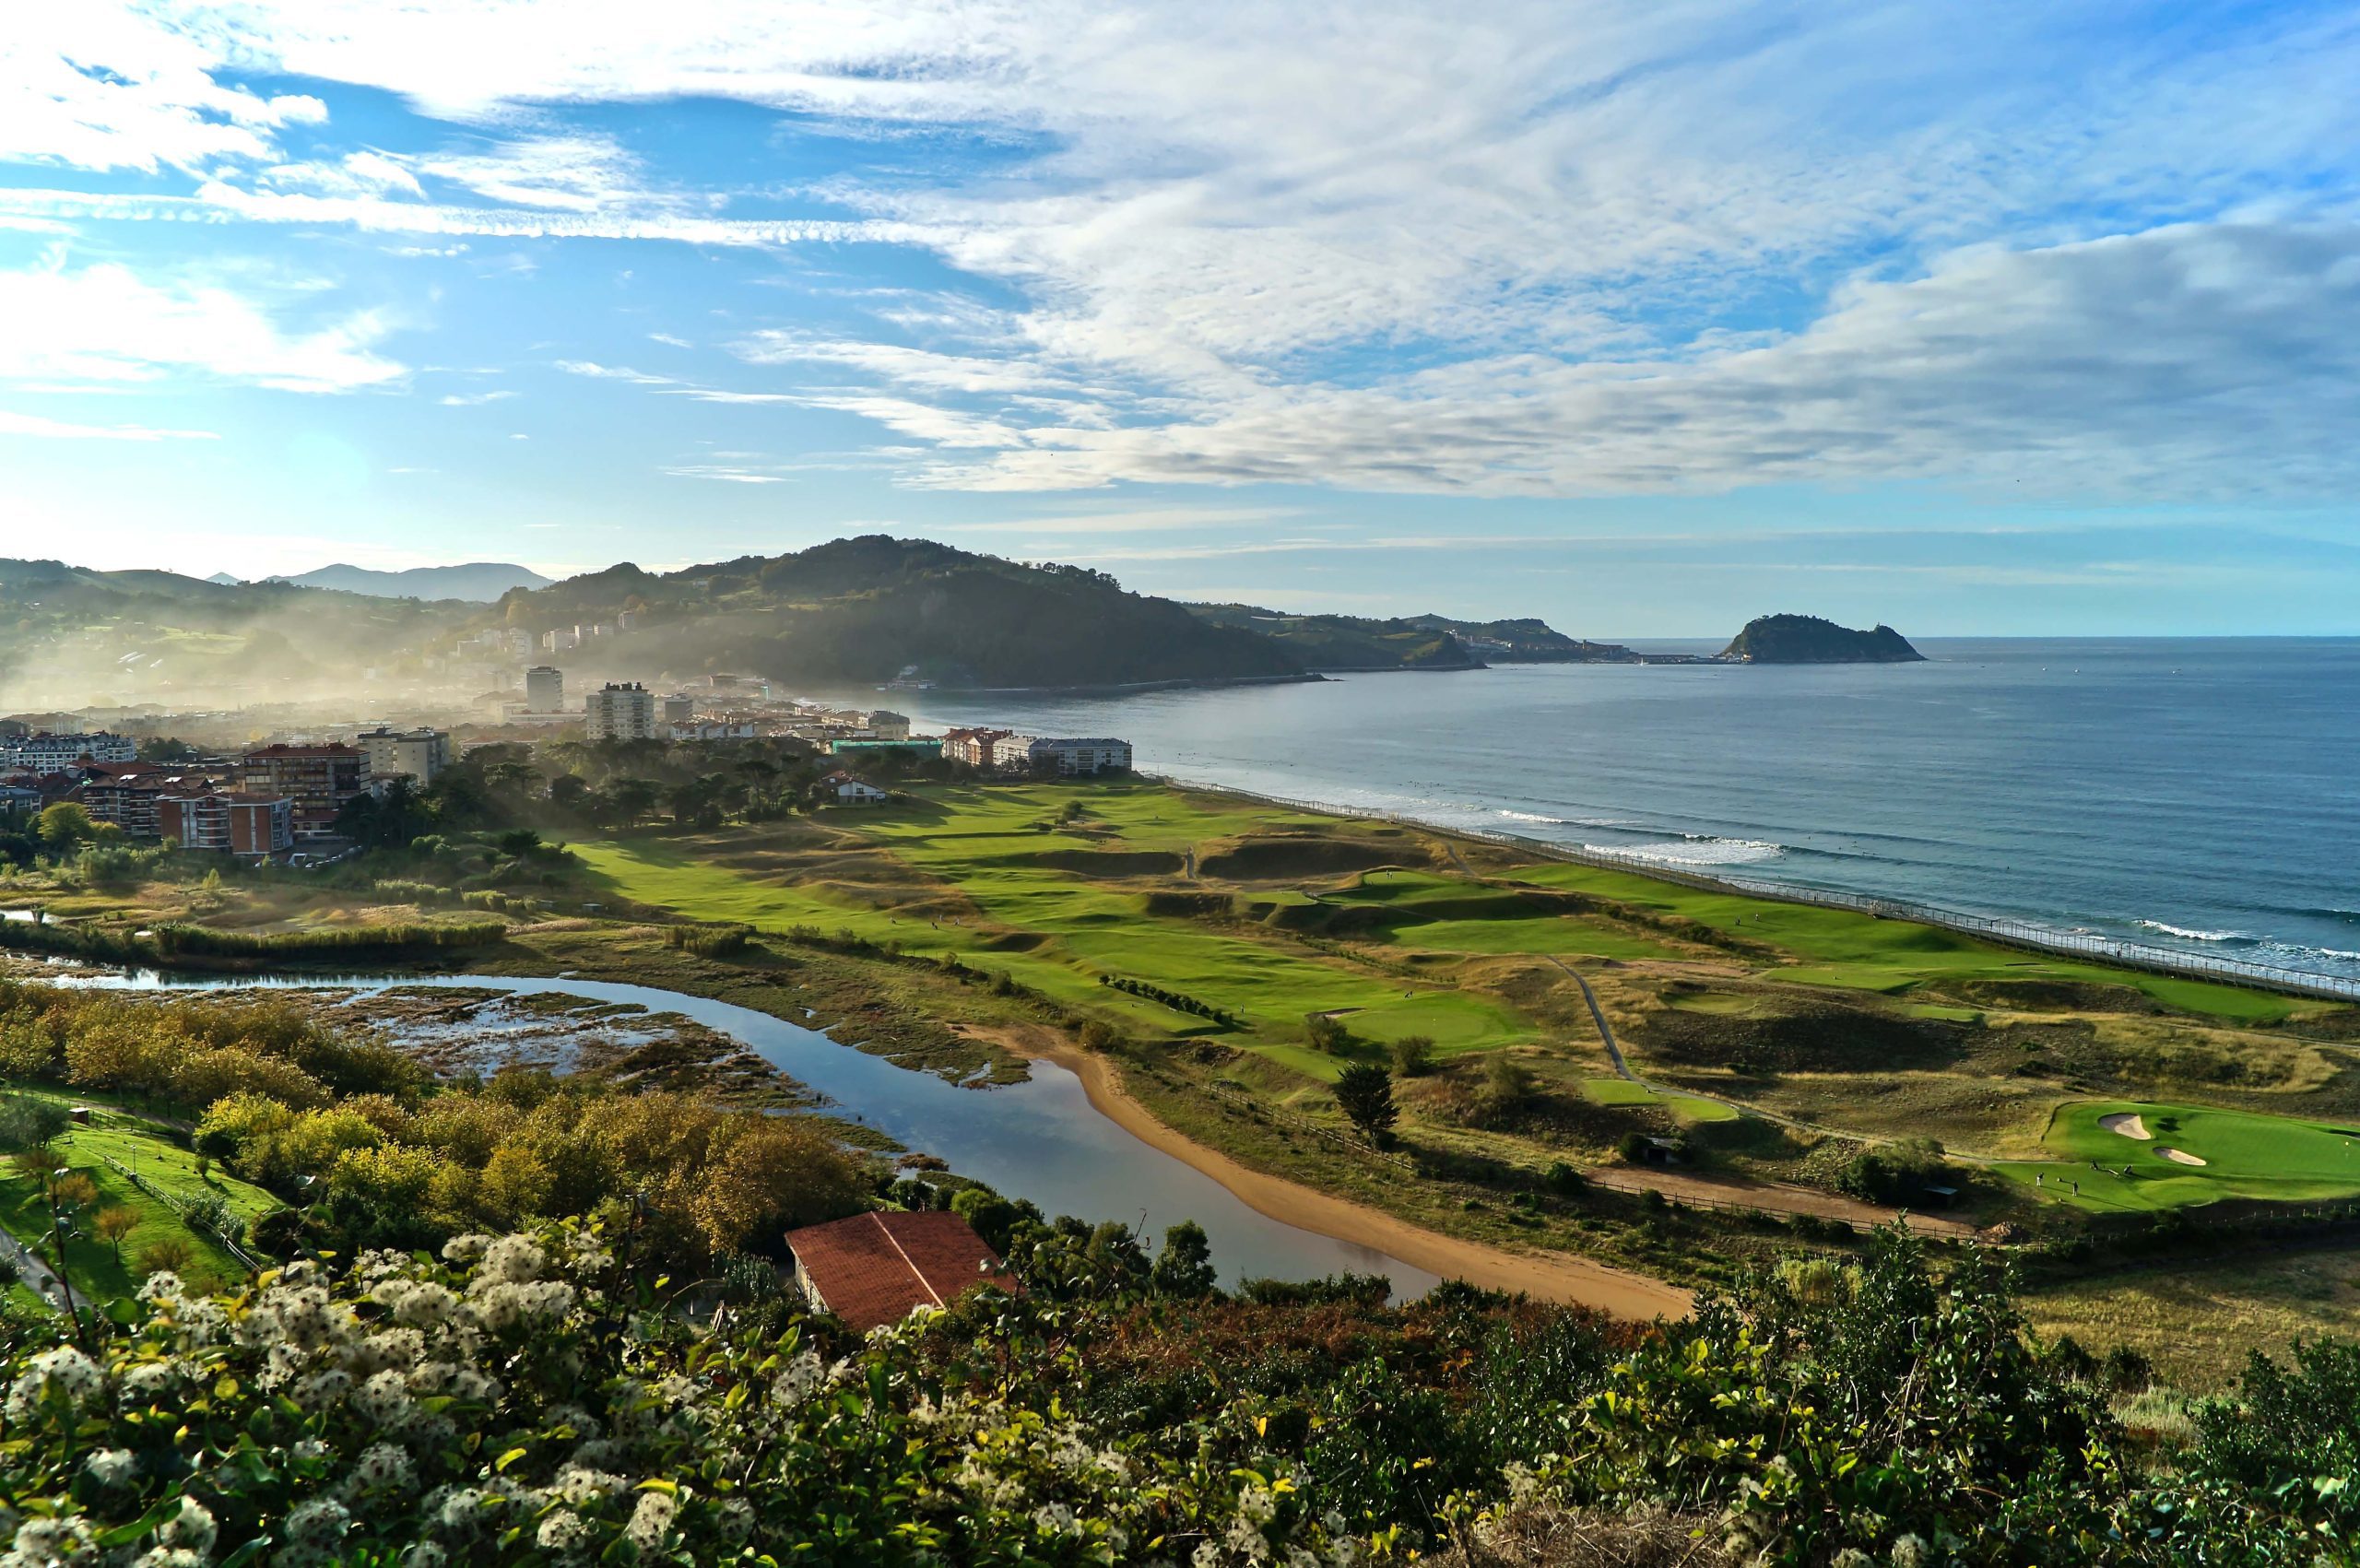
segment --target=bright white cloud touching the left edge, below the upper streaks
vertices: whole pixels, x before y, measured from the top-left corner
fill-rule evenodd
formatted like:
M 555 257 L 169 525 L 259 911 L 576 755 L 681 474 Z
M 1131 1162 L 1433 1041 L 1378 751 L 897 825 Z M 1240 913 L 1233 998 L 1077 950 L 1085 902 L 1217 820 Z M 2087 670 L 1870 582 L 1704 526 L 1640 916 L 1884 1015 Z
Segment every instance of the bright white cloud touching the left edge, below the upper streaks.
M 380 387 L 406 368 L 378 354 L 387 324 L 354 312 L 293 328 L 203 276 L 146 279 L 118 262 L 0 272 L 0 380 L 153 383 L 201 375 L 288 392 Z

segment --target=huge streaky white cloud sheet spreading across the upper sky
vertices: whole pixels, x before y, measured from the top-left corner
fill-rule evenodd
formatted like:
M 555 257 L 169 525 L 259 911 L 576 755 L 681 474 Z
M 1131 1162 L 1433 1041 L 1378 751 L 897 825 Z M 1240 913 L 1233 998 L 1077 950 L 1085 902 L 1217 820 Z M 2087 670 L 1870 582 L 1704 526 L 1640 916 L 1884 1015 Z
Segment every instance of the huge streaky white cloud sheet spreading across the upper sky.
M 2355 470 L 2348 9 L 2223 7 L 2202 47 L 2141 7 L 1966 0 L 59 9 L 0 83 L 71 57 L 90 87 L 50 92 L 50 130 L 0 156 L 94 97 L 123 109 L 90 109 L 97 146 L 33 156 L 144 146 L 212 177 L 0 191 L 0 222 L 918 246 L 977 283 L 873 290 L 906 342 L 732 328 L 750 364 L 857 385 L 609 373 L 876 420 L 932 451 L 918 484 L 2223 491 Z M 215 85 L 264 73 L 470 130 L 250 170 L 309 113 Z M 109 99 L 116 78 L 144 87 Z M 618 116 L 569 125 L 675 97 L 925 151 L 793 191 L 850 220 L 729 217 L 729 191 L 666 184 L 654 142 L 604 130 Z M 939 161 L 937 128 L 958 144 Z M 222 144 L 156 151 L 175 137 Z

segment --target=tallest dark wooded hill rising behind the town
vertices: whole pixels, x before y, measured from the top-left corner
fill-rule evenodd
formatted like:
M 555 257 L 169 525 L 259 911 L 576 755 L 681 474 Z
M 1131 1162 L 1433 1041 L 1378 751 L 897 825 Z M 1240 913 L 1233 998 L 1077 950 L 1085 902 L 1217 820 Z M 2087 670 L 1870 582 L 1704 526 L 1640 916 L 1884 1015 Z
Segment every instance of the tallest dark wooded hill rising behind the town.
M 916 538 L 838 538 L 682 571 L 632 564 L 514 590 L 507 626 L 640 614 L 630 664 L 675 675 L 753 668 L 781 680 L 946 687 L 1112 687 L 1284 680 L 1291 649 L 1206 623 L 1102 571 L 1029 567 Z

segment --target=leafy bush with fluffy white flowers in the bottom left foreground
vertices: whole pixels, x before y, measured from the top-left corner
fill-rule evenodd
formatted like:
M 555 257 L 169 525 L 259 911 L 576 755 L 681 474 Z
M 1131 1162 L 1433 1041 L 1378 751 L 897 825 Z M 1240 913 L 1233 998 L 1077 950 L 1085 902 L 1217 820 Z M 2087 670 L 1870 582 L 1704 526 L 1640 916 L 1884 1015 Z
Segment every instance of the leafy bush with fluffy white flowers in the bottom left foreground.
M 1027 1304 L 859 1341 L 649 1308 L 578 1226 L 234 1296 L 153 1275 L 90 1346 L 5 1346 L 0 1568 L 1359 1559 L 1246 1410 L 1076 1419 L 1057 1355 L 1010 1353 L 1045 1346 Z

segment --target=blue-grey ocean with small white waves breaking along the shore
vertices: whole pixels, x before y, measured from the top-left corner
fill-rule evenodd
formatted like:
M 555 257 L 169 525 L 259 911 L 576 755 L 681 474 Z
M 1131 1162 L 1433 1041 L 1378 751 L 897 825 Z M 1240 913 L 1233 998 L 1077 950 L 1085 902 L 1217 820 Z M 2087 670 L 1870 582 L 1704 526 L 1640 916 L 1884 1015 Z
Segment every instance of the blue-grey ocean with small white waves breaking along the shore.
M 892 704 L 1116 734 L 1192 782 L 2360 975 L 2360 638 L 1919 649 Z

